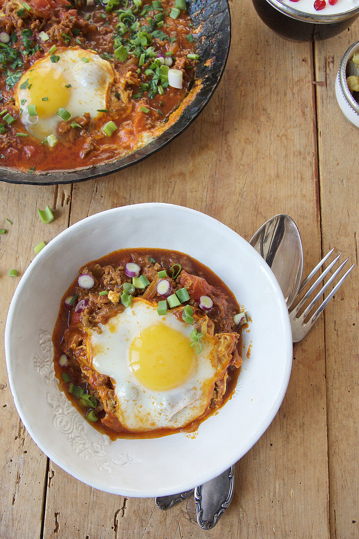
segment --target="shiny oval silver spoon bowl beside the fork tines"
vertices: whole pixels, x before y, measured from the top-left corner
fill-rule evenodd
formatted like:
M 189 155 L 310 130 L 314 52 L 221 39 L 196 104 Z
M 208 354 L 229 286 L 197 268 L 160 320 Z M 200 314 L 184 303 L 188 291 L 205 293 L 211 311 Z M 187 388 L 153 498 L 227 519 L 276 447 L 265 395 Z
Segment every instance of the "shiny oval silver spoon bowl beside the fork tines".
M 272 269 L 289 309 L 303 272 L 302 242 L 292 217 L 279 213 L 268 219 L 249 243 Z

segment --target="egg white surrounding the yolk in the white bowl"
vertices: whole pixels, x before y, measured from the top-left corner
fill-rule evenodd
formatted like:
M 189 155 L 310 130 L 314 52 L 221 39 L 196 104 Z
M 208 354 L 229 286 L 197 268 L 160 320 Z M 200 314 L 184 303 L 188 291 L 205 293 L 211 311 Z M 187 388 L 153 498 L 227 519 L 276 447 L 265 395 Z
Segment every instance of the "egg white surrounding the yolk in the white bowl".
M 129 367 L 129 347 L 144 328 L 156 324 L 179 331 L 188 338 L 190 345 L 191 324 L 181 322 L 169 312 L 159 316 L 157 305 L 141 298 L 134 298 L 132 305 L 107 324 L 100 324 L 102 333 L 88 329 L 87 354 L 91 355 L 92 368 L 111 377 L 118 399 L 116 416 L 129 431 L 150 431 L 163 427 L 178 428 L 195 420 L 205 411 L 216 381 L 213 365 L 213 342 L 209 336 L 201 341 L 203 349 L 195 355 L 195 367 L 179 386 L 165 391 L 154 391 L 143 386 Z

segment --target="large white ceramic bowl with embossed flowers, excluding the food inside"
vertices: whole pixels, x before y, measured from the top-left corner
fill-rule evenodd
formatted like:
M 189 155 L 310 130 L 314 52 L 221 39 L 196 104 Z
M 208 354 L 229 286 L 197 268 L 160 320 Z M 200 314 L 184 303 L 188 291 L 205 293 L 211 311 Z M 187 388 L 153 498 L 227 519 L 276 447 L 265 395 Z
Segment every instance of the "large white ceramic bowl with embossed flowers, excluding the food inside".
M 61 297 L 80 266 L 131 246 L 163 247 L 197 258 L 219 275 L 251 316 L 236 392 L 195 436 L 110 441 L 79 415 L 54 378 L 51 336 Z M 278 282 L 243 238 L 203 213 L 149 203 L 87 217 L 50 241 L 13 296 L 5 353 L 20 418 L 49 458 L 105 492 L 158 496 L 201 485 L 256 443 L 287 389 L 292 333 Z

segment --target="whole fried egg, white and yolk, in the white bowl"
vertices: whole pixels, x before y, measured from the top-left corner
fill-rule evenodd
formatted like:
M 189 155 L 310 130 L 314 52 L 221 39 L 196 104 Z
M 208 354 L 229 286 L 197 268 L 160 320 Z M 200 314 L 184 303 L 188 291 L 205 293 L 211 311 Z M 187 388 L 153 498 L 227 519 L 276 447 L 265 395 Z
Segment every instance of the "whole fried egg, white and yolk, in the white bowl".
M 197 354 L 190 346 L 194 326 L 180 319 L 170 311 L 159 316 L 156 304 L 134 298 L 123 312 L 100 324 L 100 334 L 87 329 L 89 363 L 111 377 L 116 416 L 129 431 L 191 423 L 208 407 L 215 382 L 227 367 L 218 360 L 217 336 L 204 334 Z M 222 350 L 222 359 L 230 357 L 227 352 Z

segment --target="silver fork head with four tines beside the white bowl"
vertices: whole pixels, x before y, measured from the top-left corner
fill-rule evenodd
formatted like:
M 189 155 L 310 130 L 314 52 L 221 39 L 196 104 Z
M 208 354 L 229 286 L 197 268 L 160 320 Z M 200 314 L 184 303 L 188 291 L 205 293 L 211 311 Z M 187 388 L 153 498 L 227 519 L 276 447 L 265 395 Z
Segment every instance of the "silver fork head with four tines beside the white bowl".
M 330 257 L 330 255 L 333 253 L 334 248 L 329 251 L 328 254 L 325 255 L 325 257 L 315 266 L 315 268 L 309 273 L 308 277 L 302 282 L 298 295 L 303 291 L 303 289 L 307 286 L 308 282 L 314 277 L 316 272 L 322 267 L 324 262 Z M 316 305 L 316 303 L 320 300 L 323 293 L 326 291 L 328 286 L 332 284 L 334 279 L 337 277 L 337 275 L 341 272 L 342 268 L 347 264 L 348 258 L 344 260 L 341 265 L 335 270 L 335 272 L 330 275 L 327 282 L 324 284 L 324 286 L 320 289 L 320 291 L 316 294 L 315 298 L 313 298 L 312 301 L 310 301 L 309 305 L 306 307 L 306 309 L 303 311 L 303 313 L 298 316 L 298 313 L 305 305 L 306 301 L 309 299 L 309 296 L 314 292 L 316 287 L 320 284 L 320 282 L 323 281 L 323 279 L 326 277 L 326 275 L 329 273 L 330 269 L 332 269 L 336 262 L 341 257 L 341 254 L 337 255 L 337 257 L 330 262 L 330 264 L 324 269 L 324 271 L 319 275 L 319 277 L 313 282 L 313 284 L 310 286 L 308 291 L 303 295 L 301 300 L 298 302 L 297 305 L 291 311 L 289 312 L 289 319 L 291 320 L 291 326 L 292 326 L 292 335 L 293 335 L 293 342 L 301 341 L 302 338 L 304 338 L 308 331 L 313 327 L 313 324 L 315 323 L 317 317 L 323 312 L 325 307 L 328 304 L 328 301 L 333 298 L 334 294 L 337 292 L 341 284 L 343 283 L 344 279 L 346 279 L 351 272 L 351 270 L 354 268 L 355 264 L 351 266 L 344 275 L 340 278 L 340 280 L 337 282 L 337 284 L 334 286 L 332 291 L 329 292 L 325 300 L 320 304 L 320 306 L 316 309 L 316 311 L 310 316 L 309 320 L 305 322 L 307 319 L 309 313 L 312 311 L 313 307 Z

